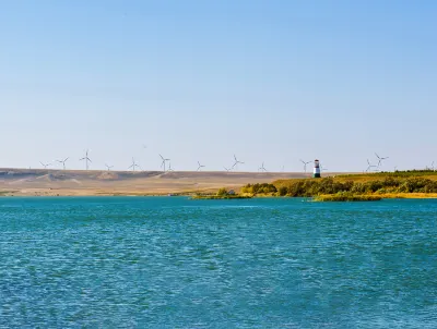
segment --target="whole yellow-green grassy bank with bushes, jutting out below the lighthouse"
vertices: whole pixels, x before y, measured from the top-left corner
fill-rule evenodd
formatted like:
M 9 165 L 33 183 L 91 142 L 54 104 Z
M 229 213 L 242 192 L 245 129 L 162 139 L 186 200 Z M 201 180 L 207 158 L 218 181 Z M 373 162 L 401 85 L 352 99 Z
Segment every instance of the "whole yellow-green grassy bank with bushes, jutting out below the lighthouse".
M 322 179 L 279 180 L 270 184 L 247 184 L 241 194 L 253 196 L 316 197 L 326 195 L 393 197 L 437 197 L 437 172 L 398 171 L 349 174 Z M 341 196 L 339 196 L 341 198 Z

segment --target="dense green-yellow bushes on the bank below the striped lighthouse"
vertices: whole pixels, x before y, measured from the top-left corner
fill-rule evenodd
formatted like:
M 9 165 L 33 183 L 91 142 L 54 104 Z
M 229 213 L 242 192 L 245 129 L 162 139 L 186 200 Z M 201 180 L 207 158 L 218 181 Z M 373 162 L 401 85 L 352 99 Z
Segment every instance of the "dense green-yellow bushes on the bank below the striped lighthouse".
M 386 194 L 386 193 L 437 193 L 437 181 L 424 178 L 386 176 L 368 182 L 339 182 L 332 178 L 318 180 L 285 180 L 274 184 L 248 184 L 243 193 L 275 194 L 280 196 L 316 196 L 336 193 Z

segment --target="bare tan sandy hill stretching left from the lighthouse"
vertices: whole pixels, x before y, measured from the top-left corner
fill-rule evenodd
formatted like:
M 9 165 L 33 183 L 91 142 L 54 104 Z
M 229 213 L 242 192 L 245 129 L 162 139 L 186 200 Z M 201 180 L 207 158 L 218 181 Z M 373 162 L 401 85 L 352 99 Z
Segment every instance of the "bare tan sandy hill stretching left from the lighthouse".
M 97 171 L 0 169 L 0 193 L 13 195 L 145 195 L 238 188 L 247 183 L 305 178 L 297 172 Z

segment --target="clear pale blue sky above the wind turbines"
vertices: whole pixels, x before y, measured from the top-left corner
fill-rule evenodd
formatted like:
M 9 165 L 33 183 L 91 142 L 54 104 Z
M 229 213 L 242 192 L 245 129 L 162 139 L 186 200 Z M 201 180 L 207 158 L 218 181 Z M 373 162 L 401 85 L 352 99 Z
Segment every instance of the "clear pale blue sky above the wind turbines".
M 424 168 L 437 1 L 1 1 L 0 114 L 0 167 Z

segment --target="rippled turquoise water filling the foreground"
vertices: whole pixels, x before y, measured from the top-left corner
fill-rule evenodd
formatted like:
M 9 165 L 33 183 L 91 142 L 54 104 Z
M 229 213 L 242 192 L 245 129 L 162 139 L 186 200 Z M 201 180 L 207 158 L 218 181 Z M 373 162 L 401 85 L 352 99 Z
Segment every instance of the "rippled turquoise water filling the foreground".
M 0 328 L 436 328 L 437 200 L 0 198 Z

